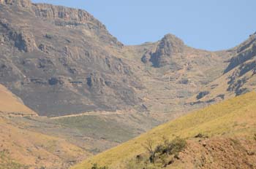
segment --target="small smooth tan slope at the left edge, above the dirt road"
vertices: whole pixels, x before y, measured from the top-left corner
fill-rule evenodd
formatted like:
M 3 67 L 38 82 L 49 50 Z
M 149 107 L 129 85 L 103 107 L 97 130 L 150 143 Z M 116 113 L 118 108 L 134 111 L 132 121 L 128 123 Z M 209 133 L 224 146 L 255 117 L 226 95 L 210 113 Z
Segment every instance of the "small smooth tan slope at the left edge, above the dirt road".
M 6 87 L 0 84 L 0 111 L 3 113 L 36 115 L 34 111 L 25 106 L 18 97 L 13 95 Z

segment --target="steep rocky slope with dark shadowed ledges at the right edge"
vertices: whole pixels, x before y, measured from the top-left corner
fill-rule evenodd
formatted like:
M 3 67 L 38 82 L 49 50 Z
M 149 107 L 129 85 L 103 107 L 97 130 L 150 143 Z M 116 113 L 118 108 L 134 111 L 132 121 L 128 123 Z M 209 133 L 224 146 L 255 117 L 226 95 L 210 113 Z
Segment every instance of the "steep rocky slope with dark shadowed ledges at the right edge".
M 256 88 L 256 34 L 252 34 L 238 47 L 224 74 L 204 87 L 190 101 L 214 103 L 225 98 L 241 95 Z

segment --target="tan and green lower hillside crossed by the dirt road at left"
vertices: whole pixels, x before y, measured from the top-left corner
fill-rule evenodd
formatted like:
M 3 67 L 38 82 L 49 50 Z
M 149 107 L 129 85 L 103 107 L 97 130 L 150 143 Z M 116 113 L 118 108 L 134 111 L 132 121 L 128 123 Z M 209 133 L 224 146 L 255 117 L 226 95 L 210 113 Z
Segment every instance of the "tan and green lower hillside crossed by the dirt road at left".
M 69 168 L 152 125 L 147 114 L 132 112 L 39 117 L 0 85 L 0 169 Z

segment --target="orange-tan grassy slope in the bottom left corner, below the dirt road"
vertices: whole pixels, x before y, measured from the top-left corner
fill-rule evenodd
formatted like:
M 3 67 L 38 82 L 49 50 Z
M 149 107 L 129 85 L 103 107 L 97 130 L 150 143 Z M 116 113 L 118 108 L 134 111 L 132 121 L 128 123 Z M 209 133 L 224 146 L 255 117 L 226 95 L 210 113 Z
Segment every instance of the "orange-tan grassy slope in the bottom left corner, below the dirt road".
M 63 138 L 37 133 L 0 117 L 0 154 L 29 168 L 68 168 L 90 154 Z M 4 168 L 0 159 L 0 168 Z M 8 165 L 8 163 L 7 163 Z

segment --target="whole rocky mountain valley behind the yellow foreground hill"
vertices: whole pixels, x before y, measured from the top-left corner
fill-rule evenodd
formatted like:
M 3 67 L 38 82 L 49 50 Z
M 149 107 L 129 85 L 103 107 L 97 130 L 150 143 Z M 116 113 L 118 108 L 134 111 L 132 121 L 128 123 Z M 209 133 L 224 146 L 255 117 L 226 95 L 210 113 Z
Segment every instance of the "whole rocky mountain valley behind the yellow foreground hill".
M 255 47 L 256 34 L 217 52 L 173 34 L 125 46 L 82 9 L 0 0 L 0 168 L 68 168 L 255 90 Z

